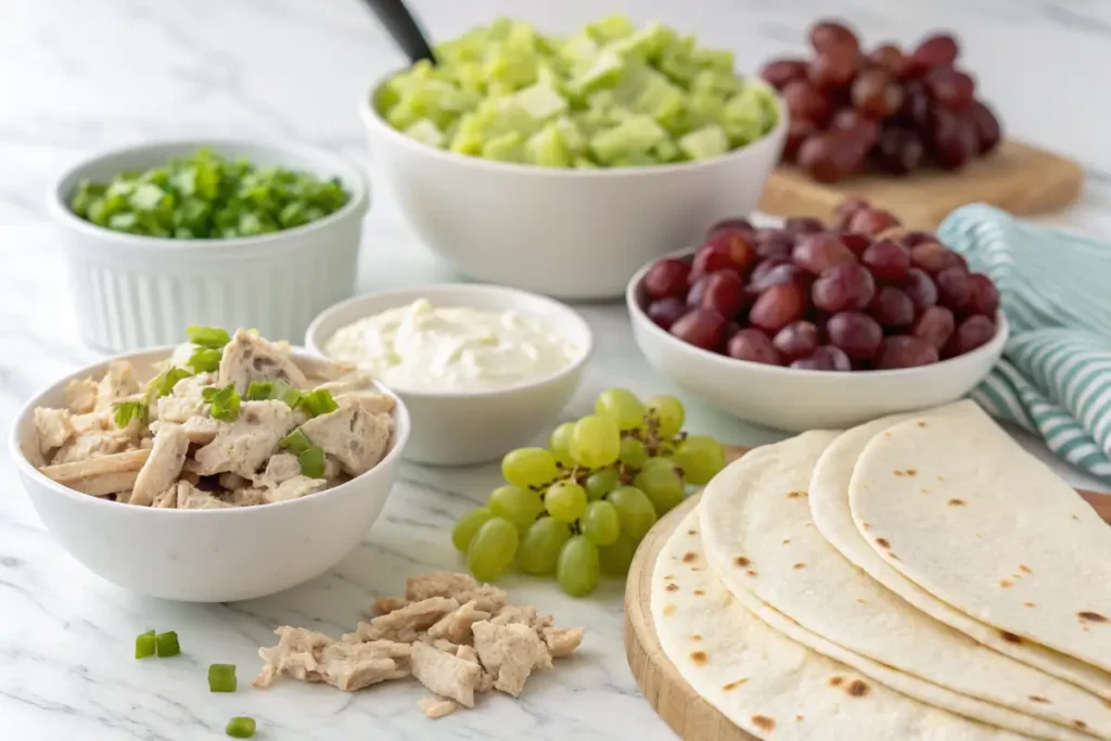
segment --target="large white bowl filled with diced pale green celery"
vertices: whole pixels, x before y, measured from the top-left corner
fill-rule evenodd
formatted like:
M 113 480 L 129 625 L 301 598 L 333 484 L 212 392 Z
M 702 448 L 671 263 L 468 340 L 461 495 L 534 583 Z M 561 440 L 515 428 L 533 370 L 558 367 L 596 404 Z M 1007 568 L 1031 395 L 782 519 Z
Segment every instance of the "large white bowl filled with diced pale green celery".
M 460 272 L 567 299 L 751 211 L 779 160 L 775 92 L 660 23 L 567 37 L 499 20 L 384 76 L 360 104 L 374 166 Z

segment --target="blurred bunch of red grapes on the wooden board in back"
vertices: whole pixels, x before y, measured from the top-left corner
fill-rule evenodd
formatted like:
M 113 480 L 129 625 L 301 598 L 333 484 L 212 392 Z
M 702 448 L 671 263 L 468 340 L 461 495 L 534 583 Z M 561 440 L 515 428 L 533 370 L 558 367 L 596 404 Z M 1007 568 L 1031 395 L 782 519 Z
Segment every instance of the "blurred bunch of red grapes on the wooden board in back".
M 954 67 L 951 34 L 930 36 L 911 53 L 884 43 L 865 54 L 848 27 L 820 21 L 810 46 L 810 61 L 773 60 L 761 74 L 791 112 L 783 159 L 815 180 L 865 168 L 905 174 L 930 162 L 958 170 L 999 144 L 999 119 Z

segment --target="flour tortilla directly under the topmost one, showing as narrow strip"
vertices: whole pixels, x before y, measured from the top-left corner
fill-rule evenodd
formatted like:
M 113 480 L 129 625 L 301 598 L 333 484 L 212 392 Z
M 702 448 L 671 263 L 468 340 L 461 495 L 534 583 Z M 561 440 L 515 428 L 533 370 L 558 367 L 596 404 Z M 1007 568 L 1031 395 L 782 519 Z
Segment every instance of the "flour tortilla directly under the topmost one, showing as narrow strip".
M 818 459 L 810 481 L 810 513 L 814 524 L 841 555 L 918 610 L 1000 653 L 1111 699 L 1111 674 L 1037 643 L 1004 639 L 998 629 L 951 608 L 892 569 L 857 530 L 849 509 L 849 482 L 868 442 L 899 422 L 921 419 L 929 423 L 932 415 L 945 414 L 948 409 L 941 407 L 917 415 L 884 417 L 853 428 L 834 440 Z

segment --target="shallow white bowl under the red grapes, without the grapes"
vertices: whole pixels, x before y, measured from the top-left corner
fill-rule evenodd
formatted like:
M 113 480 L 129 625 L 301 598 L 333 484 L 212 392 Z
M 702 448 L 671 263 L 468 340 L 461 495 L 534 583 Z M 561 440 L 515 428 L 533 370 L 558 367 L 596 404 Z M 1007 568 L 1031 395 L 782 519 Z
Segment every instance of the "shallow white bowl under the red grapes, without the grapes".
M 735 360 L 688 344 L 649 319 L 641 307 L 647 306 L 642 283 L 651 267 L 638 271 L 625 292 L 633 338 L 648 361 L 715 408 L 789 432 L 845 429 L 960 399 L 988 375 L 1007 343 L 1000 313 L 990 342 L 921 368 L 834 373 Z

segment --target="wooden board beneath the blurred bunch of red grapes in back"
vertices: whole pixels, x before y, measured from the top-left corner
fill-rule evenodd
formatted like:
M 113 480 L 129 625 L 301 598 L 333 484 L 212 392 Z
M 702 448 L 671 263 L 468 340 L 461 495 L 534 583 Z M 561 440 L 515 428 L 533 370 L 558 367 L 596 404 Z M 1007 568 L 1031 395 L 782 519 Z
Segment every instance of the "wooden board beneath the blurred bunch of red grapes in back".
M 1054 211 L 1077 200 L 1083 180 L 1083 171 L 1072 160 L 1008 140 L 990 157 L 957 172 L 930 169 L 905 178 L 868 174 L 823 183 L 795 167 L 780 166 L 758 208 L 781 217 L 828 221 L 839 202 L 861 196 L 892 211 L 911 229 L 933 229 L 965 203 L 991 203 L 1017 216 Z

